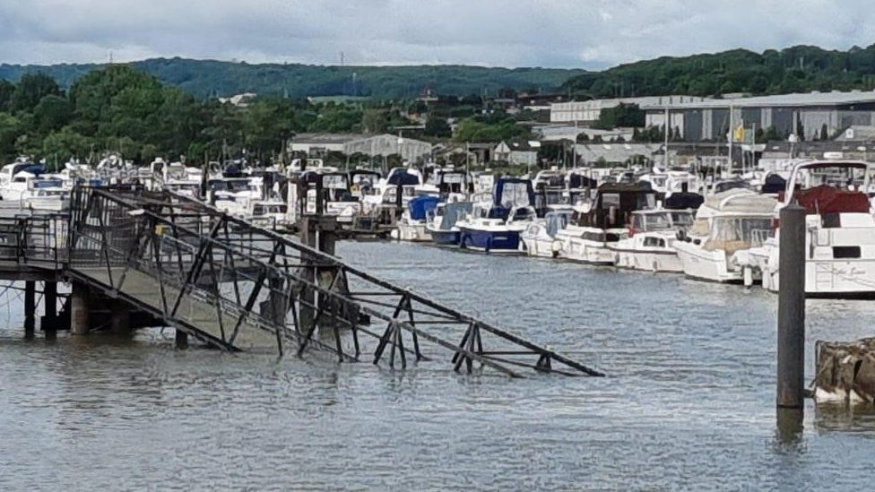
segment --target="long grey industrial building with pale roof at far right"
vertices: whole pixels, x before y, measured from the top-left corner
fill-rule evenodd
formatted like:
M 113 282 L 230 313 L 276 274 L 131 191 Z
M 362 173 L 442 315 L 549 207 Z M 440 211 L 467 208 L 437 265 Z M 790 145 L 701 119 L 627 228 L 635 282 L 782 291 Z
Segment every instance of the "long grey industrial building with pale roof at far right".
M 737 99 L 702 99 L 640 104 L 647 126 L 662 126 L 669 115 L 672 130 L 684 141 L 725 140 L 729 128 L 774 127 L 778 134 L 801 140 L 835 138 L 853 126 L 875 125 L 875 92 L 810 92 Z M 732 138 L 735 138 L 734 136 Z

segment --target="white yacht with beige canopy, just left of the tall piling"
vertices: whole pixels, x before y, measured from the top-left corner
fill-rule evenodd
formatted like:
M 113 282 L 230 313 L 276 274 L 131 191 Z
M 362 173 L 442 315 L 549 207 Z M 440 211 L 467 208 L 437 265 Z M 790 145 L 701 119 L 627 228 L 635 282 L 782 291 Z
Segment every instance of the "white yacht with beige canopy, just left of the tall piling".
M 674 241 L 684 274 L 715 282 L 741 282 L 746 273 L 755 275 L 732 257 L 762 245 L 776 204 L 774 198 L 744 188 L 709 196 L 688 233 Z

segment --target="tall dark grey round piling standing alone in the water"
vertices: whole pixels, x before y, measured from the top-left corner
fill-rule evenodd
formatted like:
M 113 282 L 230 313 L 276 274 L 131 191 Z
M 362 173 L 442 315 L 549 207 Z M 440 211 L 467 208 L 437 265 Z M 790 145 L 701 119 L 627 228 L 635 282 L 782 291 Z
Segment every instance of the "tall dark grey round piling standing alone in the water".
M 805 209 L 781 210 L 777 406 L 801 409 L 805 358 Z

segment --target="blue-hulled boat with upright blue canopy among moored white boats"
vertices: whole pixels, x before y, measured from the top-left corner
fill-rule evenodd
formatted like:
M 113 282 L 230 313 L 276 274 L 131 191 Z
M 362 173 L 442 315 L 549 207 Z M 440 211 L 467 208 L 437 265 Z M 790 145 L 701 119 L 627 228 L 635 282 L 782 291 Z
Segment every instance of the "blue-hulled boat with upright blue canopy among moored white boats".
M 456 222 L 459 246 L 485 253 L 520 254 L 520 234 L 535 217 L 532 182 L 499 178 L 492 195 L 475 203 L 472 213 Z

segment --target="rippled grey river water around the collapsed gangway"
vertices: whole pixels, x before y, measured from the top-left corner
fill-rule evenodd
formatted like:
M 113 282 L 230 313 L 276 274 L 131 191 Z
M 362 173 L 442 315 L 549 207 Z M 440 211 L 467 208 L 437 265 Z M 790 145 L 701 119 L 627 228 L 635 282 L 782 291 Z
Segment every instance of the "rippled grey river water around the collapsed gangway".
M 429 246 L 342 243 L 338 255 L 608 377 L 276 362 L 175 350 L 157 329 L 26 341 L 7 294 L 0 488 L 871 484 L 875 415 L 809 402 L 801 436 L 780 438 L 776 298 L 760 289 Z M 871 336 L 875 303 L 811 300 L 807 315 L 813 360 L 814 341 Z

